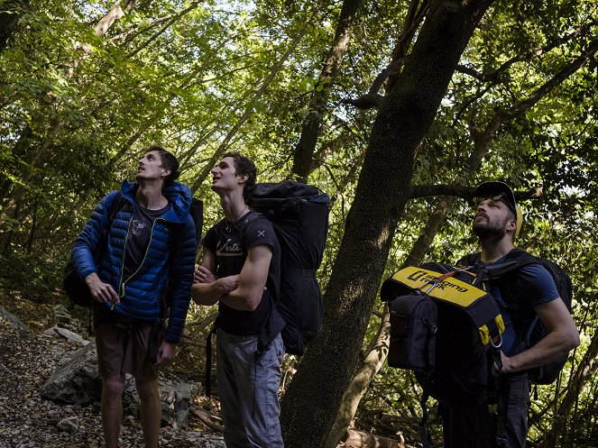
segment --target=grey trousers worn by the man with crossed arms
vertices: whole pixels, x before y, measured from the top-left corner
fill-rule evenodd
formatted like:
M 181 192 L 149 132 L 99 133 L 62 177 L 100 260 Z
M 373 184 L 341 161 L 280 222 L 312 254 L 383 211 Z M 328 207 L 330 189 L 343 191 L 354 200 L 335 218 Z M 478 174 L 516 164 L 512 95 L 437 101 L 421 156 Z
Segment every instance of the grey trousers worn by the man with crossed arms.
M 257 336 L 218 330 L 216 379 L 227 448 L 283 448 L 281 406 L 281 334 L 261 355 Z

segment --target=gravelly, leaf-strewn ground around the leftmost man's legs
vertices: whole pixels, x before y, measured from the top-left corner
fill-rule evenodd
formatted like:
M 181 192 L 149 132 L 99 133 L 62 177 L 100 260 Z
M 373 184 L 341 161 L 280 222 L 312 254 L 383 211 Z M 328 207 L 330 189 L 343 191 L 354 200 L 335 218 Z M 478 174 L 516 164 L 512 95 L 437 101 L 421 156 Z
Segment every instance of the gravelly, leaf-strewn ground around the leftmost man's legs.
M 51 306 L 22 301 L 8 308 L 26 328 L 0 318 L 0 448 L 103 446 L 99 403 L 69 406 L 41 398 L 41 386 L 60 359 L 80 345 L 43 334 L 44 327 L 55 324 Z M 161 447 L 224 447 L 217 410 L 210 406 L 214 403 L 198 397 L 187 428 L 162 427 Z M 143 447 L 139 420 L 126 410 L 120 446 Z

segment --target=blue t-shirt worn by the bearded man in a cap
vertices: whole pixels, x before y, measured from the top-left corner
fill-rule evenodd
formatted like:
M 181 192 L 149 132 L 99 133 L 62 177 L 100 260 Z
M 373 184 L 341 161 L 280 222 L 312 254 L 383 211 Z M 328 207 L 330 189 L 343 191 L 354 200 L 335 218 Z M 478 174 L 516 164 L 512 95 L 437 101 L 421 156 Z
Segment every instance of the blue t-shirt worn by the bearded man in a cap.
M 506 257 L 506 255 L 505 255 Z M 492 263 L 478 262 L 478 265 L 492 266 L 501 264 L 505 257 Z M 489 292 L 496 299 L 501 307 L 502 320 L 505 325 L 505 332 L 502 334 L 502 352 L 507 355 L 521 352 L 524 347 L 513 347 L 517 340 L 518 332 L 521 329 L 529 328 L 529 325 L 536 317 L 534 307 L 540 304 L 551 302 L 559 298 L 557 286 L 550 273 L 539 263 L 523 266 L 515 275 L 515 286 L 517 290 L 516 308 L 513 304 L 505 302 L 501 294 L 501 282 L 505 279 L 489 282 Z M 516 349 L 514 352 L 513 349 Z

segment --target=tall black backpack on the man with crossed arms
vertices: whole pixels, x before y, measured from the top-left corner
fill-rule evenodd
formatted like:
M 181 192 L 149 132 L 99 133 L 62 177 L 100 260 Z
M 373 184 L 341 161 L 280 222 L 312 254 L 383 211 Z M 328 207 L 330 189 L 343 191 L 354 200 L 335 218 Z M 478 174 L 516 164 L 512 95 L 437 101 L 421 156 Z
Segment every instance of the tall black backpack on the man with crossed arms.
M 293 180 L 260 183 L 248 205 L 267 217 L 281 244 L 281 291 L 277 310 L 285 320 L 285 351 L 301 355 L 322 326 L 316 271 L 328 232 L 330 197 Z

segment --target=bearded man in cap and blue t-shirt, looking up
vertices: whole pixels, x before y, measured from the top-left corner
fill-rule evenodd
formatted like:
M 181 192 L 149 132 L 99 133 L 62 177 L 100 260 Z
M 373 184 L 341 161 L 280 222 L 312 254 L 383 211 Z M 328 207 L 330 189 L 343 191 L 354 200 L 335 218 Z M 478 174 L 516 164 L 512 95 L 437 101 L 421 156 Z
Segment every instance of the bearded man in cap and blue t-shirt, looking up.
M 476 188 L 480 202 L 473 230 L 481 255 L 477 265 L 501 264 L 514 249 L 521 225 L 521 212 L 507 184 L 484 182 Z M 446 407 L 443 428 L 446 448 L 524 447 L 528 432 L 528 370 L 555 361 L 579 345 L 579 333 L 548 271 L 539 263 L 522 266 L 516 272 L 516 306 L 509 306 L 497 283 L 488 286 L 501 307 L 505 324 L 502 334 L 500 387 L 496 411 L 488 405 L 473 408 Z M 547 335 L 530 348 L 521 347 L 518 333 L 538 315 Z

